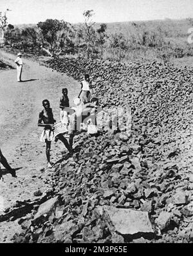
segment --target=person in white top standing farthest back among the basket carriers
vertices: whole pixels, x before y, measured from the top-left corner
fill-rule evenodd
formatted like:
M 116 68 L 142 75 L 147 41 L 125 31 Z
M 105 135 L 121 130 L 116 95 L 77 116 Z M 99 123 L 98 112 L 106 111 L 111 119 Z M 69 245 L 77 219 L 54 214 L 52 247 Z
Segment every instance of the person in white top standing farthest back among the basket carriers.
M 91 82 L 88 74 L 84 75 L 84 80 L 80 84 L 80 94 L 82 93 L 82 103 L 89 103 L 91 100 Z M 78 95 L 78 97 L 80 96 L 80 94 Z

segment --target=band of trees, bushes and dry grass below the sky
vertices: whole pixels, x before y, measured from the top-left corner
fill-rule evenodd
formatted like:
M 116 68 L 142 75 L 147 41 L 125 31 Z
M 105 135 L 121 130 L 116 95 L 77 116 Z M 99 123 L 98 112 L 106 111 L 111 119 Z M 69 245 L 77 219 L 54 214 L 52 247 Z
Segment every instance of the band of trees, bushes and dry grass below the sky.
M 71 25 L 47 19 L 37 25 L 12 26 L 5 31 L 6 45 L 28 54 L 82 55 L 116 61 L 193 56 L 188 29 L 193 19 L 95 24 L 92 11 L 85 22 Z

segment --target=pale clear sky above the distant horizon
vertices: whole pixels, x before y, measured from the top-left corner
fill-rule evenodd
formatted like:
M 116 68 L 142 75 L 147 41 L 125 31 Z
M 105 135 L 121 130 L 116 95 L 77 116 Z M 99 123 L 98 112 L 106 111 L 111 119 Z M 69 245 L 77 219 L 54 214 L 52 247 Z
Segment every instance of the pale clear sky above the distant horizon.
M 84 10 L 93 10 L 93 21 L 110 23 L 193 17 L 193 0 L 0 0 L 8 23 L 37 24 L 46 19 L 84 22 Z

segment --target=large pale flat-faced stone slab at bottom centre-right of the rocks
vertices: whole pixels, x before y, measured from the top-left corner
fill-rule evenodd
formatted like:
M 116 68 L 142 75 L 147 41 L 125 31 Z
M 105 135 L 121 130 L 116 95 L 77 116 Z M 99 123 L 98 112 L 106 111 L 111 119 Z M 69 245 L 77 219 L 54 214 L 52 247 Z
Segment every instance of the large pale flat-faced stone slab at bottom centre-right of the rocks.
M 115 230 L 122 235 L 154 233 L 147 212 L 115 208 L 113 206 L 104 206 L 104 212 L 115 227 Z

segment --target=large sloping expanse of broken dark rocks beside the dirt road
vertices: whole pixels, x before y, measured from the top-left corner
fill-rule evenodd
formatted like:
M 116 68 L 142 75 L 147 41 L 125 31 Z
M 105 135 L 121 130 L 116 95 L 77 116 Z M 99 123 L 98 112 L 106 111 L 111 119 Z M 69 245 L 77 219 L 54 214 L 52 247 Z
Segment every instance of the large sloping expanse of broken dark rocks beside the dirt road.
M 131 135 L 80 133 L 73 158 L 48 173 L 51 198 L 19 220 L 15 242 L 192 242 L 192 68 L 47 65 L 77 80 L 91 74 L 102 107 L 130 106 Z

